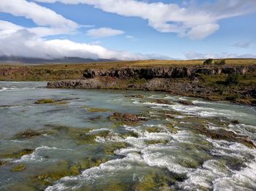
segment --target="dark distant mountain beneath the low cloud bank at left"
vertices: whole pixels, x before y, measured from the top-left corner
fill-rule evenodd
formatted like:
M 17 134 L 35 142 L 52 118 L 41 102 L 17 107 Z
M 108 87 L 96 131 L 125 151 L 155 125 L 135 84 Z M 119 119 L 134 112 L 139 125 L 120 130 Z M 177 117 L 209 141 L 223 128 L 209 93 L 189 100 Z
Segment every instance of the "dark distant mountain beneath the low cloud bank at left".
M 114 59 L 91 59 L 91 58 L 78 58 L 78 57 L 64 57 L 64 58 L 54 58 L 54 59 L 44 59 L 44 58 L 29 58 L 22 56 L 0 56 L 0 63 L 30 63 L 30 64 L 40 64 L 40 63 L 91 63 L 91 62 L 108 62 L 116 61 Z

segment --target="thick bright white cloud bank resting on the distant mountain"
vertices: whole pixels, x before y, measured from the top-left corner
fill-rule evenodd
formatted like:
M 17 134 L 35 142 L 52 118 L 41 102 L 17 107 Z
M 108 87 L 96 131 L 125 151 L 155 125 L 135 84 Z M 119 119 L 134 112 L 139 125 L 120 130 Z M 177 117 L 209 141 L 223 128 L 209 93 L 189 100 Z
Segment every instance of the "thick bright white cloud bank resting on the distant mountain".
M 97 44 L 72 42 L 68 39 L 46 40 L 26 28 L 12 31 L 12 33 L 5 32 L 0 36 L 0 55 L 48 59 L 64 57 L 117 60 L 166 58 L 161 55 L 143 55 L 127 51 L 109 50 Z

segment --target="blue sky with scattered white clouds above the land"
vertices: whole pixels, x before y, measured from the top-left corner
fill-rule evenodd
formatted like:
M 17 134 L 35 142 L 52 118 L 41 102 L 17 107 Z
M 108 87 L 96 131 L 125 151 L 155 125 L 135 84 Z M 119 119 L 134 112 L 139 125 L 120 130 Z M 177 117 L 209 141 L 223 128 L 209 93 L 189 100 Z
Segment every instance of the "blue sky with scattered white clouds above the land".
M 0 55 L 256 58 L 256 0 L 0 0 Z

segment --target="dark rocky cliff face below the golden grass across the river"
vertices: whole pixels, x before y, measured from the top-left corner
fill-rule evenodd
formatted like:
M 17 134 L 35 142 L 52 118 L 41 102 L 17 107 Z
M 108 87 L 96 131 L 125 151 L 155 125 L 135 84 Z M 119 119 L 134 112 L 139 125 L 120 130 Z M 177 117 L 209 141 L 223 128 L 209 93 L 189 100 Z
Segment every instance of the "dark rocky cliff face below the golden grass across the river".
M 153 78 L 183 78 L 191 77 L 195 74 L 231 74 L 236 73 L 240 75 L 246 74 L 246 72 L 256 71 L 255 65 L 250 66 L 194 66 L 194 67 L 169 67 L 169 68 L 124 68 L 124 69 L 88 69 L 84 72 L 83 77 L 118 77 L 118 78 L 139 78 L 139 79 L 153 79 Z

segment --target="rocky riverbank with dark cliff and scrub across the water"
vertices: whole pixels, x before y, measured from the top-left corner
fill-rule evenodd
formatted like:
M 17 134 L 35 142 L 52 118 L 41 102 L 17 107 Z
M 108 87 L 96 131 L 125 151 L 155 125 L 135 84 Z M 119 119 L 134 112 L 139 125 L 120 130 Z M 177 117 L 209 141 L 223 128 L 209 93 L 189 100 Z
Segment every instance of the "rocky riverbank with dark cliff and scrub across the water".
M 256 65 L 88 69 L 50 88 L 165 91 L 172 95 L 256 105 Z

